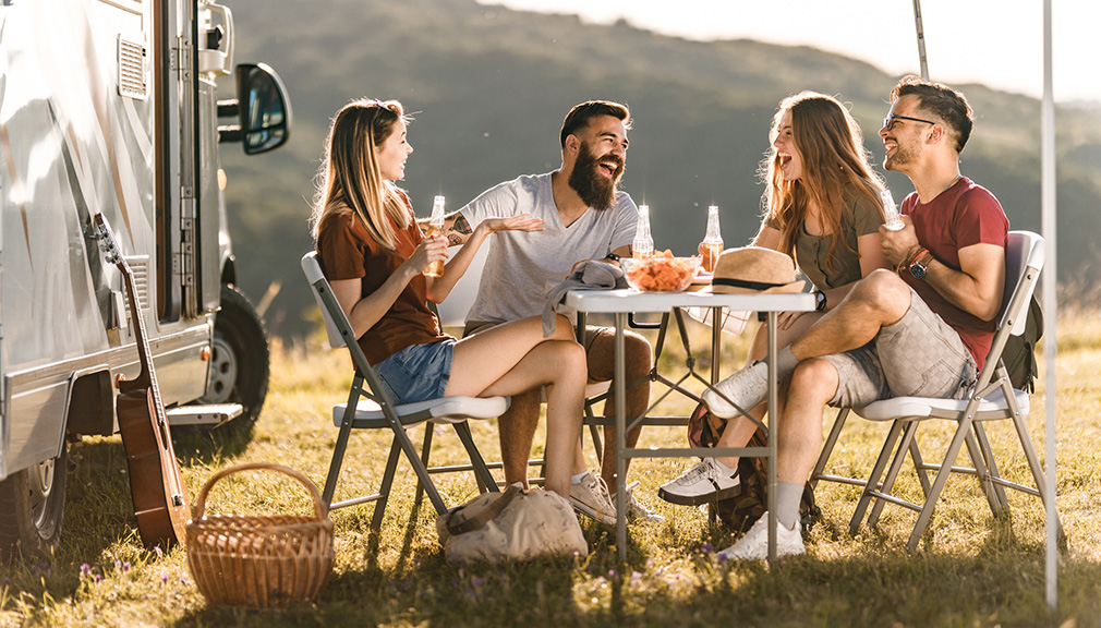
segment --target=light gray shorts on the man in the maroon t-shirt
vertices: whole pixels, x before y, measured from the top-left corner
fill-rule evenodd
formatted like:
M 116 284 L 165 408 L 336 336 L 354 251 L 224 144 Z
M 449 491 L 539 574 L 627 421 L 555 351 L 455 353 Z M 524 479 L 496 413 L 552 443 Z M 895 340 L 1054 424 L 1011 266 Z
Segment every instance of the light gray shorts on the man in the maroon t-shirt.
M 959 334 L 914 292 L 909 310 L 894 325 L 851 351 L 821 359 L 837 369 L 830 405 L 859 408 L 892 397 L 960 399 L 974 385 L 978 368 Z

